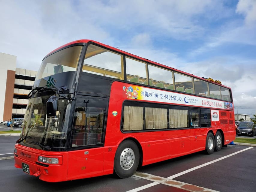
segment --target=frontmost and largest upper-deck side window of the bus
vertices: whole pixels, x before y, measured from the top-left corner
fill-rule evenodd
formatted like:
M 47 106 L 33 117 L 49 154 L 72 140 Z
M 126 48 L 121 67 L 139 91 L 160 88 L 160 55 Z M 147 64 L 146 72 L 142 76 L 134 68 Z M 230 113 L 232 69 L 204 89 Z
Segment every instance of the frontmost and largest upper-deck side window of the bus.
M 88 45 L 83 72 L 124 79 L 123 56 L 96 45 Z

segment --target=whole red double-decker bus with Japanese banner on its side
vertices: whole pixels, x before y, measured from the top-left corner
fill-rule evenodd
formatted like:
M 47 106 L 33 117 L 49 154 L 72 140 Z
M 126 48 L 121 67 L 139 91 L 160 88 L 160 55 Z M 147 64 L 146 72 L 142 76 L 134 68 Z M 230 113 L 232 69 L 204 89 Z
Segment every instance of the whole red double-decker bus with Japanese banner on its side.
M 28 98 L 15 167 L 47 182 L 126 178 L 236 135 L 230 88 L 91 40 L 50 52 Z

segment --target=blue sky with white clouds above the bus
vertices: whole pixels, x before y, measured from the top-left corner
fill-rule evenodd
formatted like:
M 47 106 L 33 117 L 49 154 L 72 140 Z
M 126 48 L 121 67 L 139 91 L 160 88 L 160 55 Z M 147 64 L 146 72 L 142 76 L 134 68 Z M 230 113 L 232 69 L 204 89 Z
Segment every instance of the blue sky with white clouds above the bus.
M 53 49 L 92 39 L 232 88 L 256 113 L 256 0 L 0 0 L 0 52 L 38 70 Z M 235 110 L 236 112 L 236 110 Z

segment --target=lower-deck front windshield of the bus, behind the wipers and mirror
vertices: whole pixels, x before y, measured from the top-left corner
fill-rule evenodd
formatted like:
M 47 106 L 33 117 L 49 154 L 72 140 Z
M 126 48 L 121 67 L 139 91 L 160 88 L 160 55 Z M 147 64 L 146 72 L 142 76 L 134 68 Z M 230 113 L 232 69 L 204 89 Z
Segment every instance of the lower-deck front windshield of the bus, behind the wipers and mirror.
M 47 117 L 46 102 L 49 95 L 29 99 L 20 144 L 44 150 L 65 147 L 70 106 L 68 100 L 59 99 L 56 116 Z

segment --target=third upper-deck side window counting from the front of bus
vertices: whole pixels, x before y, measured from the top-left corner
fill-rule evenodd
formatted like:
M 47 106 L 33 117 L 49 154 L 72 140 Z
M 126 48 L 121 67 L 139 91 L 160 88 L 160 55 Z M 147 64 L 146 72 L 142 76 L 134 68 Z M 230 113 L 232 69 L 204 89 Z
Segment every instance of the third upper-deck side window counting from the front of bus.
M 148 67 L 149 85 L 174 90 L 172 71 L 156 67 L 150 64 L 148 65 Z

